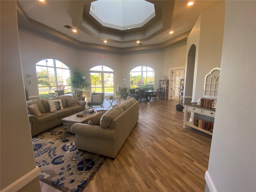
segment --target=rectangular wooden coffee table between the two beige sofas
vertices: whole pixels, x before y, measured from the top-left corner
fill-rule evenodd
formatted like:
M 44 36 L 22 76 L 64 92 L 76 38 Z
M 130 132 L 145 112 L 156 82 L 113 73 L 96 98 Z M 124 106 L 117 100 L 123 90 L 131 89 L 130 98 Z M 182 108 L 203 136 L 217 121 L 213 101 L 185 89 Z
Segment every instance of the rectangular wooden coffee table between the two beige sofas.
M 73 124 L 75 123 L 88 123 L 89 119 L 91 116 L 93 116 L 95 113 L 93 114 L 86 114 L 86 116 L 84 117 L 77 117 L 76 114 L 74 115 L 70 115 L 68 117 L 65 117 L 62 119 L 63 122 L 63 129 L 65 131 L 71 132 L 71 127 Z

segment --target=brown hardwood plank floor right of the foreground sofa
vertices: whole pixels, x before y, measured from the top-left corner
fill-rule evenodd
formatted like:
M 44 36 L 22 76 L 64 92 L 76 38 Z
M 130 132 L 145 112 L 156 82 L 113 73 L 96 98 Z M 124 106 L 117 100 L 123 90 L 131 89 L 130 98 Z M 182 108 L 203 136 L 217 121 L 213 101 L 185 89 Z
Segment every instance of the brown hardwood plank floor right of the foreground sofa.
M 176 104 L 140 102 L 139 121 L 116 159 L 107 159 L 83 192 L 203 192 L 212 136 L 183 129 Z M 42 192 L 59 192 L 41 184 Z

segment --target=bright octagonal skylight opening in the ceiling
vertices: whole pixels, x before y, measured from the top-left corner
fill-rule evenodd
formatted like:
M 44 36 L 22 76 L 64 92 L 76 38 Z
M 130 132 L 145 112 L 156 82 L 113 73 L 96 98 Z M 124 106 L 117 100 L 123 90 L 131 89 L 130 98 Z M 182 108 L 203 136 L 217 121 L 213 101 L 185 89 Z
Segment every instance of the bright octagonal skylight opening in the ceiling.
M 145 0 L 98 0 L 91 3 L 89 14 L 118 30 L 142 27 L 156 16 L 154 4 Z

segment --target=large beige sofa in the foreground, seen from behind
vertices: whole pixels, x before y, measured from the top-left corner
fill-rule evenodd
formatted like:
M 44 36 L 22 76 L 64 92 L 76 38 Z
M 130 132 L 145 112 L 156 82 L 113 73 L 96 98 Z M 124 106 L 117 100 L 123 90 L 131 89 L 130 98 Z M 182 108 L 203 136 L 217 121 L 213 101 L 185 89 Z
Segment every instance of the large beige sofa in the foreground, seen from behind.
M 80 150 L 116 157 L 130 132 L 138 122 L 139 105 L 135 98 L 126 100 L 101 116 L 98 125 L 75 123 L 75 145 Z

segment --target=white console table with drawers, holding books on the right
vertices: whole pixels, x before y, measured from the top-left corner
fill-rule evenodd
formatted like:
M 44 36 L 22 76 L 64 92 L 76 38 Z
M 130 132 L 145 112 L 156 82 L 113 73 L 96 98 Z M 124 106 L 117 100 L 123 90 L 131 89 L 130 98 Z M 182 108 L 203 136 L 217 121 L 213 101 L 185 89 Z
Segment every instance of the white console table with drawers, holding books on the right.
M 196 102 L 184 104 L 183 128 L 186 128 L 186 126 L 189 126 L 189 127 L 194 128 L 194 129 L 197 129 L 199 131 L 205 132 L 209 135 L 212 135 L 211 131 L 204 130 L 202 128 L 198 128 L 197 126 L 195 126 L 194 125 L 194 120 L 187 121 L 188 112 L 202 114 L 204 116 L 214 118 L 214 116 L 215 116 L 215 109 L 214 108 L 203 107 L 203 106 L 197 105 Z

